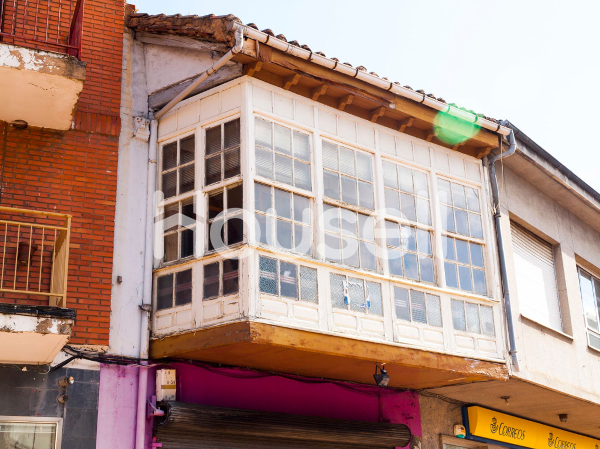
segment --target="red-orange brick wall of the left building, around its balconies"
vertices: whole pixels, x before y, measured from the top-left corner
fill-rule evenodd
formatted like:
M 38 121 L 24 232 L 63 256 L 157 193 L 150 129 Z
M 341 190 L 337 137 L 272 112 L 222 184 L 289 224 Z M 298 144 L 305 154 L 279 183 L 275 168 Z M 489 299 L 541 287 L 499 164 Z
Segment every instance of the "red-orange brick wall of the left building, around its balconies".
M 67 307 L 77 310 L 77 321 L 71 343 L 109 340 L 124 6 L 85 1 L 80 59 L 86 78 L 72 129 L 14 129 L 0 122 L 2 206 L 73 215 Z

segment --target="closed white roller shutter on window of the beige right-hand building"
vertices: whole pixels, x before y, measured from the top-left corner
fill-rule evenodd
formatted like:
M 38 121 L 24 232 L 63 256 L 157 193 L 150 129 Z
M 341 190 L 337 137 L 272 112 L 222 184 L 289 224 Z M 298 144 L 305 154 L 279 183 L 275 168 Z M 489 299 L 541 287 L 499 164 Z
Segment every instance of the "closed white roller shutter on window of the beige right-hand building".
M 512 221 L 511 234 L 521 313 L 562 331 L 552 246 Z

